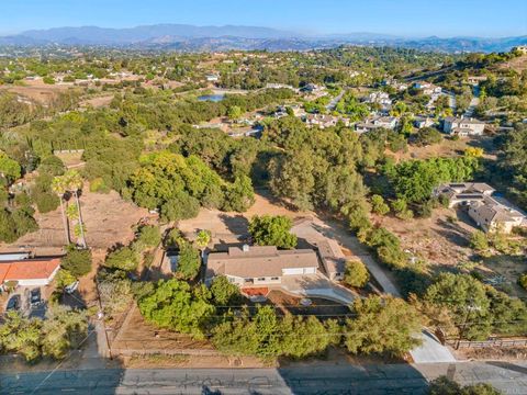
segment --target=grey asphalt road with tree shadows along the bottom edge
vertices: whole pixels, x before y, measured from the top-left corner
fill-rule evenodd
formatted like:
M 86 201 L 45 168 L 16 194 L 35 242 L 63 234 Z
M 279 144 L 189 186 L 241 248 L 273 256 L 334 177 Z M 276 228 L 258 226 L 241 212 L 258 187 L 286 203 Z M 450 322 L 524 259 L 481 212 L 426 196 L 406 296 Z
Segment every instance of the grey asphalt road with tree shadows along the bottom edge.
M 292 369 L 93 369 L 1 374 L 1 394 L 425 394 L 446 374 L 527 394 L 527 364 L 332 365 Z

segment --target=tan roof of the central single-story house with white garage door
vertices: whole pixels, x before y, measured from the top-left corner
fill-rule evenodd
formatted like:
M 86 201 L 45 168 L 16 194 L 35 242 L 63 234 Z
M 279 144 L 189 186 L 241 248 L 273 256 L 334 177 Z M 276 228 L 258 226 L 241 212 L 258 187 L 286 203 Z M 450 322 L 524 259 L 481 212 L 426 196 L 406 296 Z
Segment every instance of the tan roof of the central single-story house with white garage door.
M 228 252 L 211 252 L 206 276 L 239 278 L 280 276 L 282 269 L 318 268 L 318 258 L 311 249 L 279 250 L 273 246 L 250 246 L 247 251 L 229 247 Z

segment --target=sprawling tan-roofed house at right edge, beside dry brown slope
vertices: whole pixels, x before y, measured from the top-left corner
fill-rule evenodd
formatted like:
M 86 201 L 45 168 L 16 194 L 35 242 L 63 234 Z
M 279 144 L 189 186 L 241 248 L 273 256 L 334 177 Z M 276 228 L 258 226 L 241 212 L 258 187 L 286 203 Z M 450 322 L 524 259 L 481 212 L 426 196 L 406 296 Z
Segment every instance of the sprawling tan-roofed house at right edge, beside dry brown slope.
M 448 198 L 449 207 L 468 206 L 469 216 L 485 232 L 500 229 L 511 233 L 514 227 L 527 226 L 527 217 L 506 203 L 493 198 L 495 190 L 483 182 L 448 183 L 434 191 Z

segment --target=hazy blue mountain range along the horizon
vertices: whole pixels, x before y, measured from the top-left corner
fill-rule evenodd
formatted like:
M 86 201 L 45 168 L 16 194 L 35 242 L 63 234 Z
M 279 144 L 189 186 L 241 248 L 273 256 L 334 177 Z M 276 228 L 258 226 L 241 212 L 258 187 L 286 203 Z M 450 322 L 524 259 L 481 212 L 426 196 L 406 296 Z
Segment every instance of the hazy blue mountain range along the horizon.
M 305 50 L 338 45 L 386 45 L 437 52 L 503 52 L 513 46 L 527 45 L 527 36 L 425 37 L 404 38 L 388 34 L 350 33 L 306 35 L 259 26 L 194 26 L 186 24 L 156 24 L 130 29 L 97 26 L 55 27 L 32 30 L 0 37 L 0 45 L 45 46 L 104 45 L 134 48 L 173 50 L 268 49 Z

